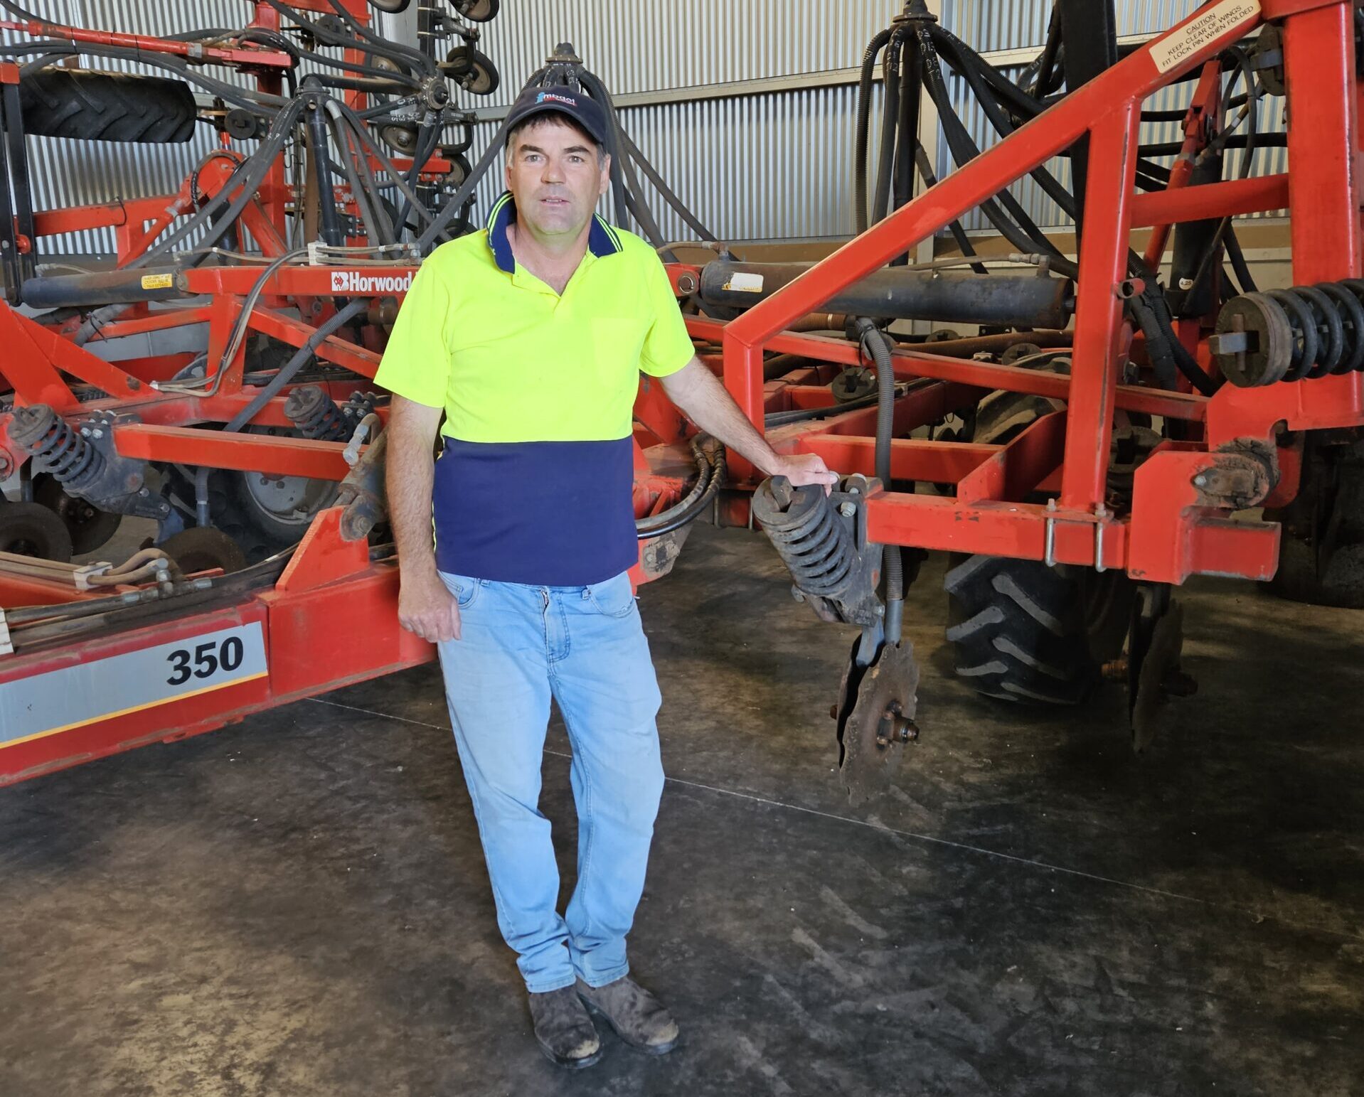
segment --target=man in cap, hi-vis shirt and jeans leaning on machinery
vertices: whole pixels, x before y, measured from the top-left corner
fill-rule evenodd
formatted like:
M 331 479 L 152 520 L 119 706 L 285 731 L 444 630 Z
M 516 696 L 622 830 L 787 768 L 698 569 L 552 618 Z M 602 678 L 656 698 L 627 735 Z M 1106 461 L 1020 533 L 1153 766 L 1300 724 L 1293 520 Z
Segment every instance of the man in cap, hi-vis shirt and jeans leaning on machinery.
M 587 1067 L 602 1051 L 585 1006 L 642 1051 L 678 1038 L 629 978 L 625 950 L 663 790 L 659 689 L 626 576 L 638 551 L 640 371 L 765 472 L 835 476 L 818 457 L 772 452 L 694 357 L 653 250 L 593 214 L 610 181 L 602 108 L 576 87 L 531 89 L 509 123 L 507 194 L 486 232 L 423 263 L 376 379 L 394 393 L 398 617 L 439 645 L 498 926 L 518 954 L 536 1038 L 555 1063 Z M 537 809 L 551 697 L 578 812 L 577 886 L 562 916 Z

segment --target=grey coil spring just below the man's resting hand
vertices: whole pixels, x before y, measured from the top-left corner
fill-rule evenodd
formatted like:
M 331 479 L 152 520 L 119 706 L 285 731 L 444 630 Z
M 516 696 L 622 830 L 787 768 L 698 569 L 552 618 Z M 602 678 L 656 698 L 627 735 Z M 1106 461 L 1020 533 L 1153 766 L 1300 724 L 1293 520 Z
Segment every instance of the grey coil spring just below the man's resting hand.
M 791 487 L 786 478 L 765 480 L 753 494 L 753 517 L 790 568 L 797 587 L 829 599 L 847 589 L 857 554 L 822 487 Z

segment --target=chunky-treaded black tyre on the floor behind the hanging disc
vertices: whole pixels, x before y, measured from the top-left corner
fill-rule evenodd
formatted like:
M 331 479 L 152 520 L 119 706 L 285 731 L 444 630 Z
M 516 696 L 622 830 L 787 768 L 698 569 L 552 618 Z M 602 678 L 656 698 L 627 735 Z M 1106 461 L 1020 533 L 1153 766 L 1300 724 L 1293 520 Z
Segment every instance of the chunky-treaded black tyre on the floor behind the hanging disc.
M 1135 585 L 1123 572 L 967 557 L 943 584 L 958 677 L 1007 701 L 1079 704 L 1123 651 Z

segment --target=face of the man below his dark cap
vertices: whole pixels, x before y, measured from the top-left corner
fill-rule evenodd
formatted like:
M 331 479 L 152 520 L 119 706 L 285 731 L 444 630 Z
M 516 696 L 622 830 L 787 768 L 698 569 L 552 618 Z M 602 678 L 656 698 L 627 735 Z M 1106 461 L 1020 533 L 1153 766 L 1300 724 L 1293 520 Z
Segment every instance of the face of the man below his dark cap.
M 576 237 L 611 180 L 611 158 L 597 164 L 591 138 L 554 115 L 522 130 L 507 156 L 507 190 L 517 220 L 542 237 Z

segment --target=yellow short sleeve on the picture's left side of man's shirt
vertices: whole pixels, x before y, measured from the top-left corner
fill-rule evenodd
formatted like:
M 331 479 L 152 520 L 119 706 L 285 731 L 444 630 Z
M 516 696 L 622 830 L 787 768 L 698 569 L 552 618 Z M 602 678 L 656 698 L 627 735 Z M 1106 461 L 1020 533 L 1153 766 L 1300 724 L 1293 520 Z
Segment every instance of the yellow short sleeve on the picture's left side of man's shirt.
M 431 255 L 417 270 L 383 349 L 378 385 L 428 408 L 443 408 L 454 348 L 454 299 L 443 265 Z

